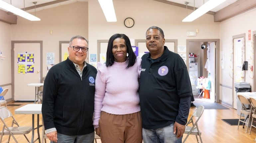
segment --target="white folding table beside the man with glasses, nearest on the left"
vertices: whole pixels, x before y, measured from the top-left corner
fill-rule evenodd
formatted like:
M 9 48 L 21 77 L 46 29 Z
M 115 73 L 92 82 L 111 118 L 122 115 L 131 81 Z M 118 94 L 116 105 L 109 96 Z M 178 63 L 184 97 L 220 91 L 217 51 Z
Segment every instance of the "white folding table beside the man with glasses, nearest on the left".
M 35 131 L 35 129 L 37 129 L 37 134 L 38 134 L 38 138 L 36 138 L 35 141 L 38 140 L 39 143 L 41 143 L 39 127 L 41 127 L 42 125 L 39 125 L 39 114 L 42 114 L 42 104 L 27 104 L 27 105 L 24 105 L 24 106 L 16 109 L 15 114 L 32 114 L 32 139 L 31 139 L 31 143 L 34 143 L 34 131 Z M 37 114 L 37 127 L 36 128 L 34 127 L 35 114 Z

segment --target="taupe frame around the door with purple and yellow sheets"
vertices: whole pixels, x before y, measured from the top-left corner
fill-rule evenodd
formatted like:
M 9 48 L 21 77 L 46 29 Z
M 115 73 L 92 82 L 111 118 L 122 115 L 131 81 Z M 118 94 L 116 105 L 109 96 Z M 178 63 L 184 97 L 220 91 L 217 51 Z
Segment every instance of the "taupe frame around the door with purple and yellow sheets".
M 12 41 L 11 66 L 12 66 L 12 100 L 14 100 L 14 44 L 16 43 L 39 43 L 40 44 L 40 82 L 43 82 L 43 41 Z

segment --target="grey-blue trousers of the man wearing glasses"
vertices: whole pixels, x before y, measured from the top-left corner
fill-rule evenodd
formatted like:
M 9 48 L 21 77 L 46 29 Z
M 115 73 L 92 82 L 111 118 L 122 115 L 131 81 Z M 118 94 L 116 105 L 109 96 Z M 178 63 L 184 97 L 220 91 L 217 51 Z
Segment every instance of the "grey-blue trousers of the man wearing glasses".
M 58 143 L 93 143 L 94 132 L 84 135 L 64 135 L 57 133 Z M 55 143 L 51 141 L 51 143 Z

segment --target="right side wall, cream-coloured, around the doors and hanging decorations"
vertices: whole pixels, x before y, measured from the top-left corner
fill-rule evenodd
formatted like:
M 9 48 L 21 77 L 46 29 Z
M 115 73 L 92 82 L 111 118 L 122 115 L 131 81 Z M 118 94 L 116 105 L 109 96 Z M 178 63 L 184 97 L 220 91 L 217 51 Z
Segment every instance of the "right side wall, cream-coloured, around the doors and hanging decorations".
M 228 87 L 232 87 L 232 78 L 229 76 L 229 74 L 232 76 L 233 71 L 230 67 L 233 66 L 231 59 L 232 54 L 232 36 L 239 35 L 242 33 L 246 33 L 245 36 L 245 45 L 247 45 L 247 42 L 253 42 L 253 40 L 248 41 L 248 30 L 255 31 L 256 30 L 256 8 L 249 10 L 245 13 L 242 13 L 238 16 L 235 16 L 233 18 L 227 19 L 223 22 L 220 22 L 220 51 L 223 51 L 225 53 L 225 69 L 220 68 L 220 84 Z M 253 36 L 252 36 L 253 39 Z M 246 46 L 245 46 L 246 47 Z M 237 57 L 234 57 L 237 58 Z M 246 59 L 248 57 L 245 57 Z M 249 66 L 248 66 L 249 69 Z M 253 73 L 250 72 L 250 70 L 246 71 L 245 75 L 246 82 L 249 82 L 252 86 L 253 79 L 250 77 L 253 77 Z M 255 91 L 255 89 L 254 89 Z M 220 100 L 222 100 L 225 103 L 228 103 L 232 105 L 232 89 L 226 88 L 226 87 L 220 87 Z M 236 99 L 234 99 L 236 100 Z

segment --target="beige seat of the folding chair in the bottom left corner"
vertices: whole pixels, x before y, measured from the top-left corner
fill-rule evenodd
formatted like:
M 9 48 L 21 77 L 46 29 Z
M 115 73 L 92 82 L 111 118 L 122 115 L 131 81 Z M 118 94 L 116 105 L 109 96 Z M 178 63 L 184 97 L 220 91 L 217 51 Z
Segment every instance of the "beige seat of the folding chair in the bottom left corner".
M 10 131 L 16 135 L 16 134 L 28 134 L 31 132 L 32 127 L 31 126 L 15 126 L 15 127 L 8 127 Z M 2 131 L 0 132 L 2 134 Z M 4 135 L 10 135 L 10 132 L 8 130 L 4 130 Z

